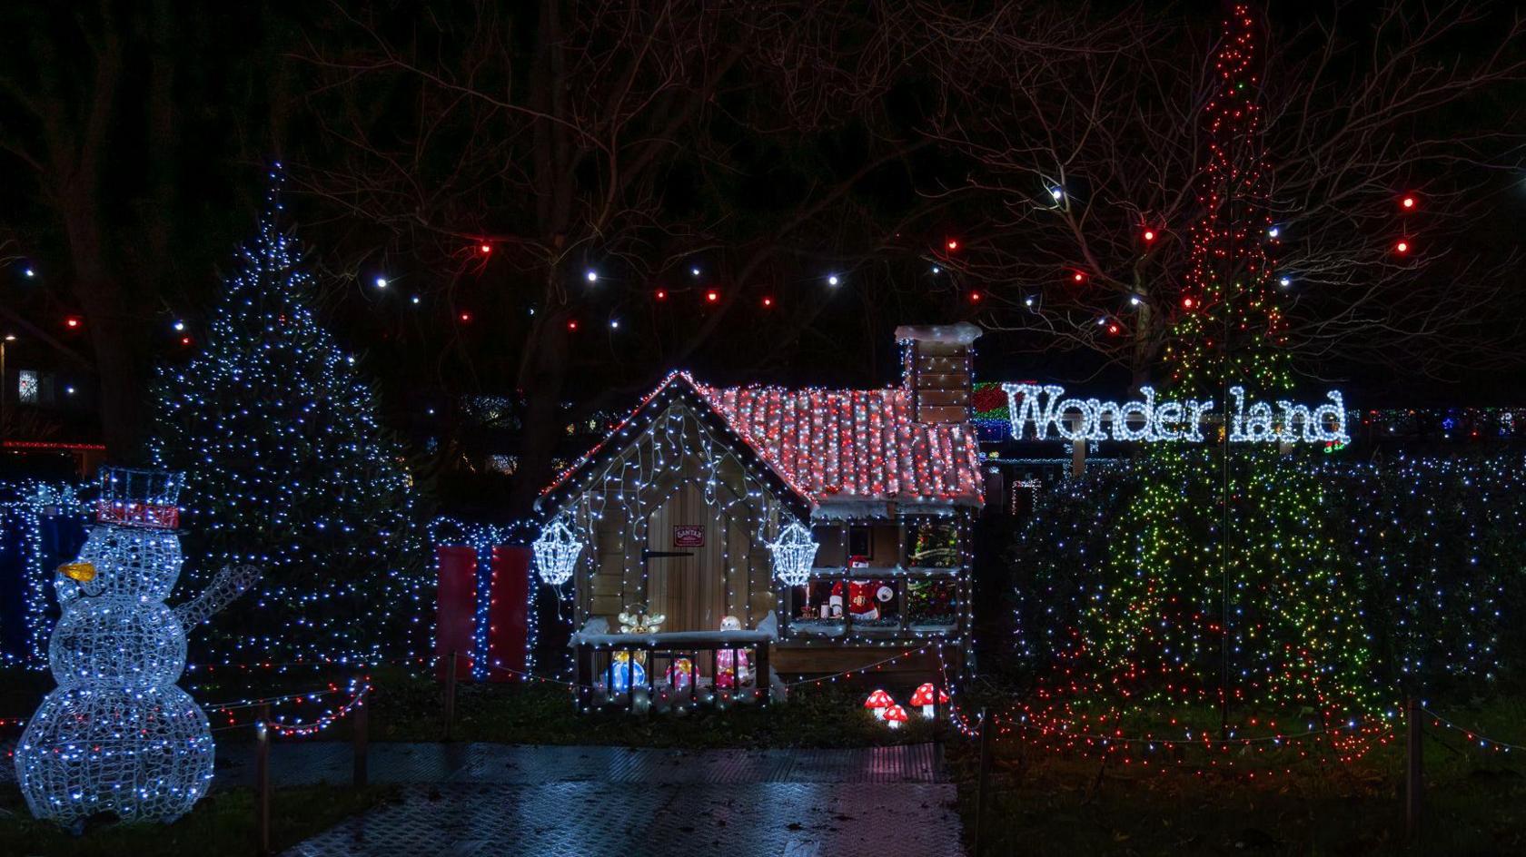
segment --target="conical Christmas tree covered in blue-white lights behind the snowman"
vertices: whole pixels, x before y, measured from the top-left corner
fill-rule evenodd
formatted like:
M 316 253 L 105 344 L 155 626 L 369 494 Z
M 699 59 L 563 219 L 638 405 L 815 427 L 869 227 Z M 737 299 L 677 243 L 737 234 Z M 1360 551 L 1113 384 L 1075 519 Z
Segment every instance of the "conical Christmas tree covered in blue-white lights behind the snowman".
M 395 659 L 427 639 L 432 602 L 412 477 L 356 358 L 311 308 L 279 181 L 201 351 L 159 377 L 150 450 L 186 473 L 188 586 L 204 586 L 197 569 L 264 569 L 204 657 Z

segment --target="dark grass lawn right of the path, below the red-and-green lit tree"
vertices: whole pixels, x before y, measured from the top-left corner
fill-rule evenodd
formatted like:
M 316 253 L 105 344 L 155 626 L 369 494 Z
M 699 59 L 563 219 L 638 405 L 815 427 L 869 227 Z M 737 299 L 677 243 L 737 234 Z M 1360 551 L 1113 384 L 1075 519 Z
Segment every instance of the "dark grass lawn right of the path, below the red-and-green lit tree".
M 1495 703 L 1457 720 L 1518 740 L 1521 711 L 1518 701 Z M 972 842 L 978 747 L 951 744 L 946 758 Z M 1425 839 L 1412 848 L 1402 735 L 1358 762 L 1291 758 L 1276 773 L 1244 759 L 1238 764 L 1248 767 L 1235 773 L 1204 772 L 1192 758 L 1164 769 L 1103 766 L 998 740 L 980 857 L 1526 854 L 1526 753 L 1482 750 L 1457 732 L 1427 729 L 1424 759 Z

